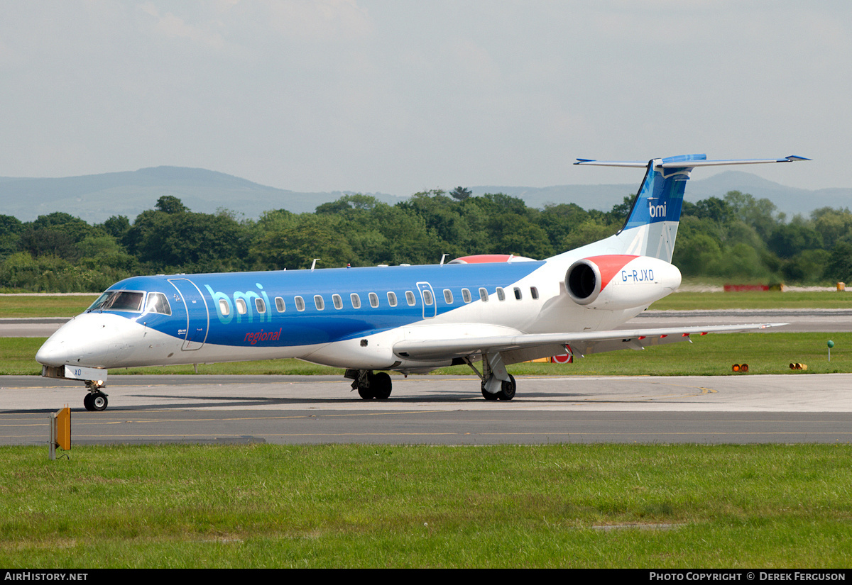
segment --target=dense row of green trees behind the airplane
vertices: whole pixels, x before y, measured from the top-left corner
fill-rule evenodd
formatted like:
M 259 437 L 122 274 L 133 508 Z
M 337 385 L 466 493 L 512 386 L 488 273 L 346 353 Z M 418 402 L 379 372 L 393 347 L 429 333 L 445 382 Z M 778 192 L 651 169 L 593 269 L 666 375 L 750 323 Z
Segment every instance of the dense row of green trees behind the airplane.
M 160 197 L 131 223 L 88 224 L 55 212 L 21 222 L 0 215 L 0 288 L 97 292 L 130 275 L 435 264 L 478 253 L 547 258 L 610 236 L 633 196 L 607 212 L 573 203 L 527 207 L 503 193 L 429 190 L 395 205 L 343 196 L 314 213 L 260 219 L 194 213 Z M 685 276 L 736 282 L 852 281 L 852 213 L 823 207 L 789 221 L 768 199 L 729 191 L 684 202 L 673 263 Z

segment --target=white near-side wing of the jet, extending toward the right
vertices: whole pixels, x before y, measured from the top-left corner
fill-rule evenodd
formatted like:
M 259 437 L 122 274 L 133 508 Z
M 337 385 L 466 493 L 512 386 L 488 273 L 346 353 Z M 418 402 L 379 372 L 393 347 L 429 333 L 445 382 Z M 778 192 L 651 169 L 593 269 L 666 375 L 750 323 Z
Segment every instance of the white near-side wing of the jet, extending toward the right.
M 565 349 L 569 349 L 573 355 L 597 354 L 616 349 L 645 349 L 649 345 L 691 341 L 690 335 L 749 332 L 783 325 L 787 325 L 787 323 L 406 339 L 394 344 L 394 353 L 407 360 L 417 361 L 438 361 L 471 355 L 500 353 L 504 355 L 505 363 L 516 363 L 547 355 L 560 355 L 564 353 Z

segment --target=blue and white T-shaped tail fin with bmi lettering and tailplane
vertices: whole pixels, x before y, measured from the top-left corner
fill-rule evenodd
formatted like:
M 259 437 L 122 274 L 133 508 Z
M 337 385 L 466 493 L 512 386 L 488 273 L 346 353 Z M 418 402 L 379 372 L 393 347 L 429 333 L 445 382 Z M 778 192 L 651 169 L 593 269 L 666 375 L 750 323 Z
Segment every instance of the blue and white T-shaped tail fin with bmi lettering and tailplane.
M 802 156 L 786 156 L 773 159 L 708 161 L 706 155 L 681 155 L 657 158 L 649 162 L 577 159 L 574 164 L 647 168 L 645 179 L 633 199 L 624 227 L 615 236 L 600 243 L 606 242 L 606 253 L 651 256 L 671 262 L 677 226 L 681 219 L 683 192 L 693 168 L 809 160 Z

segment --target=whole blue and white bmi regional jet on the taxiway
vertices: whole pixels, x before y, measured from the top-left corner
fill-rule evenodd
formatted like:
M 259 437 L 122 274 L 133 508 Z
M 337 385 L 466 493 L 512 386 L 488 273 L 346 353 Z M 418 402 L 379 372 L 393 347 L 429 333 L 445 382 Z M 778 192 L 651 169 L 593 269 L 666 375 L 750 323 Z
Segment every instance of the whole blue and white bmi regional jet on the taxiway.
M 544 260 L 135 276 L 60 327 L 36 360 L 45 377 L 83 381 L 89 411 L 107 408 L 109 368 L 279 358 L 344 368 L 368 400 L 389 397 L 388 371 L 467 364 L 486 400 L 512 400 L 509 364 L 783 325 L 615 330 L 680 286 L 671 255 L 694 168 L 806 160 L 578 159 L 646 168 L 624 227 L 601 241 Z

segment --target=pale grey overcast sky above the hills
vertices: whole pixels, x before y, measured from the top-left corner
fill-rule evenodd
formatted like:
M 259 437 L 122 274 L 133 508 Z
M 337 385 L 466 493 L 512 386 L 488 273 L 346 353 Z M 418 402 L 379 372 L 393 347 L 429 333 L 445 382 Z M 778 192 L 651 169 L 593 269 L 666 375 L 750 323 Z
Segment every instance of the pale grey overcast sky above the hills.
M 850 111 L 843 0 L 0 3 L 0 176 L 407 196 L 637 184 L 572 162 L 705 152 L 808 156 L 740 170 L 849 187 Z

